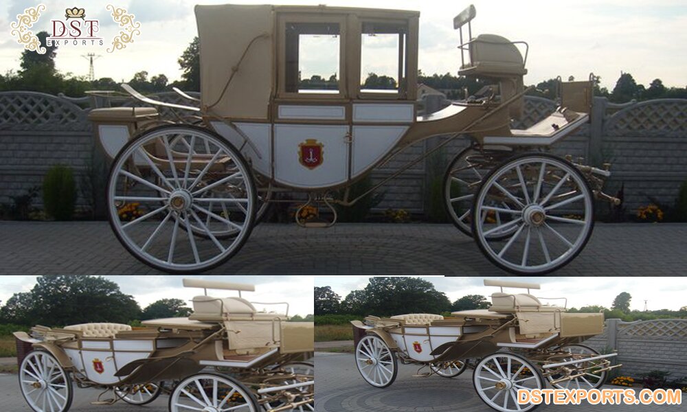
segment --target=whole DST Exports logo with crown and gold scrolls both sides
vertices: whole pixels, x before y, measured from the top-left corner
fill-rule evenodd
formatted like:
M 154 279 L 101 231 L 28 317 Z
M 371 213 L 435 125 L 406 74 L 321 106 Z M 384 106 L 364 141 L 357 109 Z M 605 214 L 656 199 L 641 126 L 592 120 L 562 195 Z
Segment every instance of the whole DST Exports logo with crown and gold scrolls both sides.
M 44 54 L 45 47 L 30 29 L 38 23 L 41 13 L 45 12 L 44 4 L 30 7 L 24 10 L 23 14 L 16 15 L 16 21 L 10 24 L 12 36 L 16 42 L 23 45 L 25 49 Z M 141 23 L 135 21 L 135 16 L 128 13 L 124 8 L 115 8 L 109 4 L 106 10 L 111 12 L 112 20 L 120 27 L 120 32 L 112 38 L 108 53 L 115 50 L 126 48 L 126 45 L 133 43 L 134 38 L 141 34 Z M 52 19 L 52 27 L 45 30 L 52 33 L 45 39 L 48 46 L 72 45 L 72 46 L 104 46 L 105 38 L 98 36 L 100 32 L 100 21 L 98 19 L 87 19 L 86 9 L 72 7 L 65 10 L 65 19 Z

